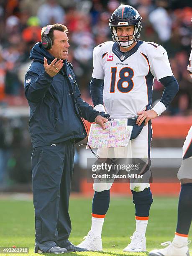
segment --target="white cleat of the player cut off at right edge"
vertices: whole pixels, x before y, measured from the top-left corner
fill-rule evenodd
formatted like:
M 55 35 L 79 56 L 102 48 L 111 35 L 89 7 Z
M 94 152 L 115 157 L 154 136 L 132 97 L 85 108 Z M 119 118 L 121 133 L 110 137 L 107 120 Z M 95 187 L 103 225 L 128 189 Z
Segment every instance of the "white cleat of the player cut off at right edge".
M 163 249 L 155 249 L 150 251 L 149 256 L 190 256 L 188 244 L 191 241 L 187 241 L 187 243 L 178 244 L 173 242 L 165 242 L 161 243 L 162 246 L 167 246 Z

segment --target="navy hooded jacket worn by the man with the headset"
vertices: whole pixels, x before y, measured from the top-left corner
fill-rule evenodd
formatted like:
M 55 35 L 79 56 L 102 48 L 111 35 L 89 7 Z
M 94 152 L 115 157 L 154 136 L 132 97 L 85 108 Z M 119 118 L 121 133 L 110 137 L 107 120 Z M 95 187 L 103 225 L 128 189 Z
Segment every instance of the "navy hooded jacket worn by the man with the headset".
M 51 145 L 69 139 L 81 141 L 87 136 L 81 117 L 94 122 L 99 114 L 80 97 L 75 76 L 68 62 L 58 74 L 50 77 L 44 69 L 54 60 L 37 43 L 30 53 L 33 62 L 25 78 L 25 95 L 30 106 L 29 132 L 33 148 Z

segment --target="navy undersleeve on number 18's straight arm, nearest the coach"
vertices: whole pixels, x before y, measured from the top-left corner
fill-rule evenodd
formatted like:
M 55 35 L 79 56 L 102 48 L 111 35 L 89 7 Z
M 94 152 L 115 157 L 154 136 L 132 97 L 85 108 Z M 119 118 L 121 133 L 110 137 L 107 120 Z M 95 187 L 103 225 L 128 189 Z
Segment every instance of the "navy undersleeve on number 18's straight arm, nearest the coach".
M 90 92 L 91 92 L 91 98 L 94 107 L 102 104 L 103 105 L 103 98 L 102 98 L 102 92 L 103 92 L 103 79 L 97 79 L 93 78 L 90 82 Z

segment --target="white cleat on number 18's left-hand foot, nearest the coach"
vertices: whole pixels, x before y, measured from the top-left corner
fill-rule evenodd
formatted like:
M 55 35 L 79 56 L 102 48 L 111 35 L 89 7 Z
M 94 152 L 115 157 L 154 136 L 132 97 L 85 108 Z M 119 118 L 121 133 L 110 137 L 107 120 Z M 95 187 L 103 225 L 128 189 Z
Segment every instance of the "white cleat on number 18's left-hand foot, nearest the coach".
M 84 241 L 79 243 L 77 247 L 86 248 L 88 251 L 102 251 L 102 240 L 99 236 L 95 237 L 90 230 L 87 236 L 84 236 Z

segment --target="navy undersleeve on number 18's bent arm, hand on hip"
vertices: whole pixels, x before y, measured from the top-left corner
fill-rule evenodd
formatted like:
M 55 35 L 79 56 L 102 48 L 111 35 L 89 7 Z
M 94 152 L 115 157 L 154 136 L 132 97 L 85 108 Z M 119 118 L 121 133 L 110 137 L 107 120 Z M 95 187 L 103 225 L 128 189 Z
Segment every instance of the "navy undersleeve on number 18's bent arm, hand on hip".
M 179 84 L 174 76 L 163 77 L 159 79 L 159 82 L 161 82 L 165 87 L 160 101 L 165 105 L 165 107 L 168 107 L 174 96 L 179 91 Z

